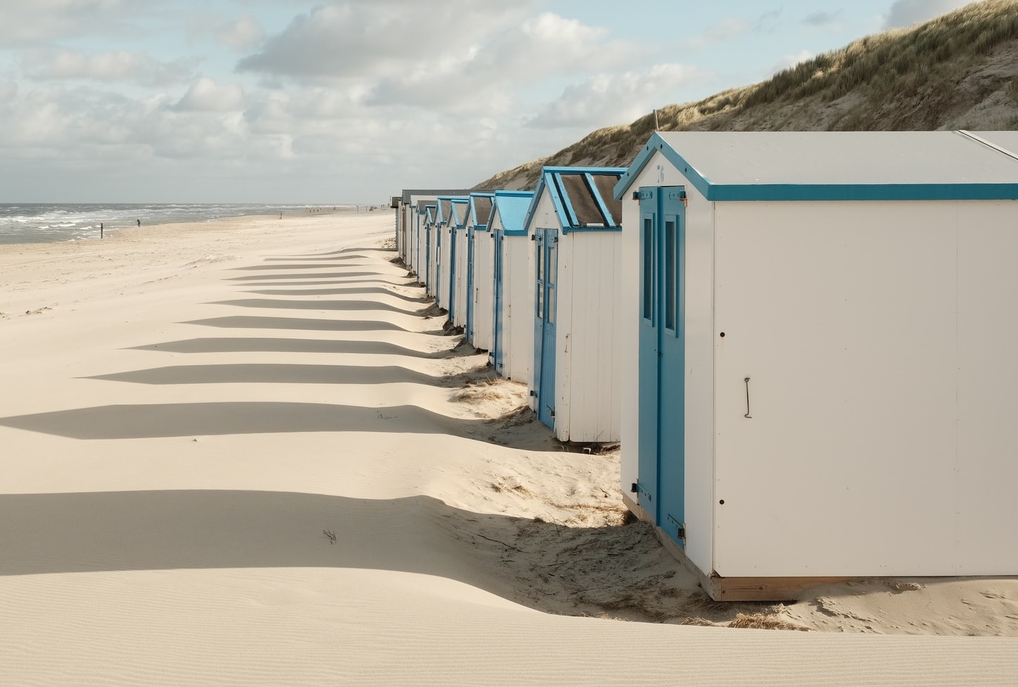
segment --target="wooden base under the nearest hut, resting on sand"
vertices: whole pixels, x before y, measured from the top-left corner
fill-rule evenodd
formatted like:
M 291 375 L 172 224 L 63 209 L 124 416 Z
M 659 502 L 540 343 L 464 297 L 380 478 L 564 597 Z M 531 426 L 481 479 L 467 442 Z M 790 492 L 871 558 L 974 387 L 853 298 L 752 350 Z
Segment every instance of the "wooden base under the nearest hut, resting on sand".
M 622 501 L 633 515 L 644 522 L 654 523 L 651 514 L 643 510 L 628 495 Z M 785 602 L 796 598 L 796 594 L 806 587 L 817 584 L 846 582 L 856 577 L 721 577 L 715 573 L 706 575 L 686 557 L 682 547 L 655 525 L 658 539 L 679 563 L 699 577 L 700 588 L 716 602 Z

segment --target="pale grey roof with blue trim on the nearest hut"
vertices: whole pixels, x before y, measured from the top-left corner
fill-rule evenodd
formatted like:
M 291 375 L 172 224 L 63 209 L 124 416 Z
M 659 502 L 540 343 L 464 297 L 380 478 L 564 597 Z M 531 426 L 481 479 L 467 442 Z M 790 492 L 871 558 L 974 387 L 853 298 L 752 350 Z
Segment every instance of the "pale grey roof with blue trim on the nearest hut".
M 661 152 L 709 201 L 1015 199 L 1010 151 L 1013 131 L 658 131 L 613 194 Z

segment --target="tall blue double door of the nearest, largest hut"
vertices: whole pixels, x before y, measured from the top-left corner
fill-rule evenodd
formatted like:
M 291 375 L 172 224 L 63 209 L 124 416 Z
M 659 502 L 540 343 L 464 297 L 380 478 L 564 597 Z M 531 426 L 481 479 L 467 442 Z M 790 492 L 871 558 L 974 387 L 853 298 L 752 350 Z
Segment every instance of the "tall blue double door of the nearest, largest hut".
M 685 191 L 641 188 L 637 500 L 685 543 Z

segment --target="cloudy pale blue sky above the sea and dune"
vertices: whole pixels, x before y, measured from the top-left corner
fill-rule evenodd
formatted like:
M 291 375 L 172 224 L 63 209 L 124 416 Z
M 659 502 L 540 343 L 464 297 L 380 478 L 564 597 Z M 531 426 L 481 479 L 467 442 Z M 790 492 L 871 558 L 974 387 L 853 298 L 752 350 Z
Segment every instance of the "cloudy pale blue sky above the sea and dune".
M 0 203 L 382 203 L 955 0 L 0 0 Z

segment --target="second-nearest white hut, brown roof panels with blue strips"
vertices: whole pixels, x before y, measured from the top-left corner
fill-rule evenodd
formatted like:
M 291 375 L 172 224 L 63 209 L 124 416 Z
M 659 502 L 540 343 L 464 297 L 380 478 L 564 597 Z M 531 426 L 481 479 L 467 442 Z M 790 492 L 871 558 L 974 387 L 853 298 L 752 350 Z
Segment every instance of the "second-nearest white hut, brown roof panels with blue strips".
M 625 169 L 545 167 L 524 219 L 533 241 L 533 409 L 560 441 L 619 439 L 618 303 Z

